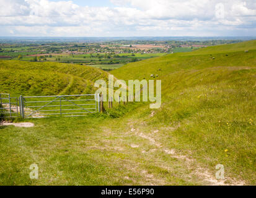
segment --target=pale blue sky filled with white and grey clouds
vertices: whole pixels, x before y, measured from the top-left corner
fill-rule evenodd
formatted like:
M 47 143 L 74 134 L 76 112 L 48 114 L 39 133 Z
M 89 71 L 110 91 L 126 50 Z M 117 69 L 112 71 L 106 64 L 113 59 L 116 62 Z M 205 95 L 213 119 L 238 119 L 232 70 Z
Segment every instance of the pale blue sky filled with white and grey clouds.
M 254 37 L 256 0 L 0 0 L 0 37 Z

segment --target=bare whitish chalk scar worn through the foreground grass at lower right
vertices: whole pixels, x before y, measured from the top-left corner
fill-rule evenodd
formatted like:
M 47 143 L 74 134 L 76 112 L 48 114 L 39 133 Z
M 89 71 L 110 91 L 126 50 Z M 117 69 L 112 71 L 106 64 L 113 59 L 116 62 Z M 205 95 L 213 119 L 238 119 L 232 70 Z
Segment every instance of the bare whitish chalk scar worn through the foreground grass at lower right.
M 138 132 L 139 129 L 135 132 L 136 135 L 143 139 L 148 139 L 149 142 L 152 145 L 155 145 L 158 149 L 161 149 L 163 152 L 165 152 L 167 155 L 170 155 L 173 158 L 177 158 L 179 160 L 185 160 L 186 165 L 188 168 L 192 166 L 192 163 L 195 163 L 195 160 L 192 158 L 188 158 L 186 155 L 179 155 L 175 152 L 174 149 L 165 149 L 162 147 L 162 145 L 158 142 L 156 142 L 155 139 L 153 139 L 150 136 L 147 136 L 146 134 L 143 134 L 143 132 Z M 145 152 L 144 152 L 145 153 Z M 206 168 L 198 168 L 197 170 L 193 171 L 192 174 L 195 174 L 198 176 L 198 178 L 202 178 L 206 183 L 210 183 L 211 186 L 244 186 L 244 181 L 237 181 L 236 179 L 232 178 L 225 178 L 222 180 L 218 180 L 214 178 L 214 176 L 208 171 Z M 226 183 L 227 181 L 231 181 L 231 183 Z

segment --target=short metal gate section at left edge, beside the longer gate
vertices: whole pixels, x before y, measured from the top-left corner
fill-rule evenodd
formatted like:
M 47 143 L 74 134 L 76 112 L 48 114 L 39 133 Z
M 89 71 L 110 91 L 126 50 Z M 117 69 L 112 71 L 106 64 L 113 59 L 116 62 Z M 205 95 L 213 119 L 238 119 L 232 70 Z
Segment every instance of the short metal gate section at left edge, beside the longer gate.
M 0 118 L 18 118 L 19 100 L 9 93 L 0 93 Z

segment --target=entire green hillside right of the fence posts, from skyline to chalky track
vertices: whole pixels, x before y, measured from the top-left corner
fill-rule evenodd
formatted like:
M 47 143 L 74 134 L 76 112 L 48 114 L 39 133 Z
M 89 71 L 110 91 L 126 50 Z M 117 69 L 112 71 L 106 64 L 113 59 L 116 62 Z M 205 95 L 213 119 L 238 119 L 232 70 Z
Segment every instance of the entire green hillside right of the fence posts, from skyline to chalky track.
M 158 74 L 162 106 L 143 119 L 152 127 L 169 127 L 157 138 L 208 167 L 223 164 L 227 174 L 255 183 L 255 44 L 171 54 L 128 64 L 112 74 L 125 80 Z

